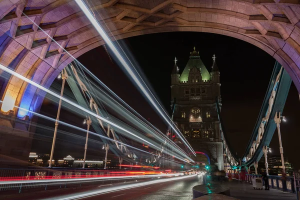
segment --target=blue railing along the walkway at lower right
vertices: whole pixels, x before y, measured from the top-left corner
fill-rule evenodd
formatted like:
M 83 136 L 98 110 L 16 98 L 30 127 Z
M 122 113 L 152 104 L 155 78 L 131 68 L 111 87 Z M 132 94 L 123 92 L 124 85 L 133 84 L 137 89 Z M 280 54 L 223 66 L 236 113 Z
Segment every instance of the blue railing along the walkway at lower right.
M 226 174 L 228 176 L 228 173 Z M 252 184 L 252 178 L 261 177 L 259 174 L 246 174 L 245 181 Z M 241 180 L 240 175 L 238 173 L 231 173 L 231 178 L 236 180 Z M 282 184 L 281 176 L 279 175 L 268 175 L 268 182 L 269 187 L 274 189 L 280 189 L 283 190 L 283 184 Z M 286 176 L 286 191 L 288 192 L 295 192 L 294 187 L 294 177 L 293 176 Z M 263 183 L 264 184 L 264 183 Z

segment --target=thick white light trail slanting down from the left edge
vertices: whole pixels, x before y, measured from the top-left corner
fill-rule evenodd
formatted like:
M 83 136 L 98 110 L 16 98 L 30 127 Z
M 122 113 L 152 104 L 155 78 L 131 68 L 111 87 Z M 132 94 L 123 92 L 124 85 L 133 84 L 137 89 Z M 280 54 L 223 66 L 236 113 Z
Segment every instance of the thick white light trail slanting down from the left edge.
M 90 115 L 92 115 L 92 116 L 94 116 L 94 117 L 96 117 L 96 118 L 99 118 L 99 119 L 102 120 L 102 121 L 105 121 L 106 123 L 110 124 L 111 126 L 114 126 L 114 127 L 116 127 L 116 128 L 119 128 L 120 130 L 122 130 L 122 131 L 124 131 L 124 132 L 126 132 L 126 133 L 128 133 L 128 134 L 130 134 L 130 135 L 132 135 L 132 136 L 134 136 L 134 137 L 136 137 L 136 138 L 138 138 L 138 139 L 140 139 L 140 140 L 142 140 L 142 141 L 144 141 L 144 142 L 150 144 L 150 145 L 152 145 L 152 146 L 155 147 L 156 149 L 160 149 L 160 147 L 157 147 L 157 146 L 154 145 L 152 142 L 150 142 L 150 141 L 148 141 L 148 140 L 145 140 L 145 139 L 141 138 L 141 137 L 138 136 L 138 135 L 135 135 L 134 133 L 128 131 L 127 129 L 125 129 L 125 128 L 121 127 L 121 126 L 119 126 L 118 124 L 115 124 L 115 123 L 113 123 L 113 122 L 107 120 L 106 118 L 101 117 L 101 116 L 95 114 L 94 112 L 92 112 L 92 111 L 90 111 L 90 110 L 88 110 L 88 109 L 86 109 L 86 108 L 84 108 L 84 107 L 82 107 L 82 106 L 76 104 L 75 102 L 72 102 L 72 101 L 70 101 L 69 99 L 67 99 L 67 98 L 65 98 L 65 97 L 63 97 L 63 96 L 60 96 L 59 94 L 57 94 L 57 93 L 51 91 L 50 89 L 47 89 L 47 88 L 45 88 L 45 87 L 39 85 L 38 83 L 36 83 L 36 82 L 34 82 L 34 81 L 32 81 L 32 80 L 30 80 L 30 79 L 28 79 L 28 78 L 22 76 L 21 74 L 19 74 L 19 73 L 15 72 L 15 71 L 13 71 L 13 70 L 11 70 L 11 69 L 5 67 L 5 66 L 2 65 L 2 64 L 0 64 L 0 69 L 6 71 L 6 72 L 8 72 L 8 73 L 10 73 L 11 75 L 14 75 L 14 76 L 16 76 L 16 77 L 18 77 L 18 78 L 24 80 L 25 82 L 28 82 L 28 83 L 32 84 L 33 86 L 35 86 L 35 87 L 37 87 L 37 88 L 39 88 L 39 89 L 41 89 L 41 90 L 43 90 L 43 91 L 45 91 L 45 92 L 51 94 L 51 95 L 53 95 L 53 96 L 55 96 L 55 97 L 57 97 L 57 98 L 60 98 L 60 99 L 63 100 L 64 102 L 66 102 L 66 103 L 68 103 L 68 104 L 70 104 L 70 105 L 72 105 L 72 106 L 74 106 L 74 107 L 77 107 L 78 109 L 81 109 L 82 111 L 84 111 L 84 112 L 86 112 L 86 113 L 88 113 L 88 114 L 90 114 Z M 187 159 L 189 159 L 190 161 L 193 161 L 190 157 L 188 157 L 188 156 L 186 156 L 186 155 L 183 155 L 183 156 L 186 157 Z M 176 156 L 176 158 L 178 158 L 178 157 Z M 180 158 L 179 158 L 179 159 L 180 159 Z M 180 160 L 182 160 L 182 159 L 180 159 Z

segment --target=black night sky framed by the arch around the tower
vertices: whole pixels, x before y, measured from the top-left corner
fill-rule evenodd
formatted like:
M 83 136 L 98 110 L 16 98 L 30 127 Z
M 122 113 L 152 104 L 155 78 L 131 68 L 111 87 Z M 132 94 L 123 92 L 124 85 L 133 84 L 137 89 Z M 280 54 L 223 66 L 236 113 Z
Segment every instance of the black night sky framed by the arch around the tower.
M 181 72 L 189 58 L 193 46 L 199 51 L 200 57 L 210 70 L 212 55 L 215 53 L 220 70 L 222 109 L 221 115 L 227 138 L 232 151 L 242 155 L 256 122 L 262 100 L 264 98 L 269 78 L 275 60 L 260 48 L 232 37 L 202 32 L 170 32 L 155 33 L 130 37 L 122 41 L 130 49 L 141 70 L 144 72 L 161 104 L 169 111 L 170 107 L 170 72 L 173 59 L 176 56 Z M 109 86 L 123 100 L 131 105 L 142 116 L 163 132 L 166 125 L 160 119 L 142 95 L 135 89 L 122 70 L 114 64 L 102 46 L 94 48 L 81 55 L 78 60 L 90 69 L 101 81 Z M 57 84 L 57 80 L 53 83 Z M 58 82 L 59 83 L 59 82 Z M 44 102 L 41 113 L 56 116 L 56 107 L 51 102 Z M 295 149 L 300 135 L 297 112 L 300 102 L 295 86 L 291 85 L 283 115 L 287 122 L 281 123 L 281 137 L 284 155 L 289 158 L 296 168 L 300 167 Z M 61 119 L 78 124 L 78 118 L 70 117 L 62 112 Z M 72 119 L 74 118 L 74 119 Z M 81 119 L 80 119 L 81 120 Z M 39 120 L 40 123 L 41 120 Z M 49 126 L 53 124 L 48 124 Z M 84 126 L 80 124 L 83 128 Z M 60 127 L 63 129 L 63 127 Z M 38 132 L 38 131 L 37 131 Z M 43 131 L 43 139 L 34 140 L 32 150 L 48 151 L 50 149 L 51 130 Z M 76 133 L 85 136 L 84 133 Z M 45 141 L 45 136 L 48 136 Z M 59 136 L 55 147 L 56 155 L 72 154 L 81 156 L 84 138 L 70 139 L 71 136 Z M 96 138 L 95 138 L 96 139 Z M 67 144 L 65 141 L 75 143 Z M 89 144 L 87 157 L 99 156 L 100 144 Z M 278 136 L 275 131 L 270 143 L 273 152 L 279 153 Z

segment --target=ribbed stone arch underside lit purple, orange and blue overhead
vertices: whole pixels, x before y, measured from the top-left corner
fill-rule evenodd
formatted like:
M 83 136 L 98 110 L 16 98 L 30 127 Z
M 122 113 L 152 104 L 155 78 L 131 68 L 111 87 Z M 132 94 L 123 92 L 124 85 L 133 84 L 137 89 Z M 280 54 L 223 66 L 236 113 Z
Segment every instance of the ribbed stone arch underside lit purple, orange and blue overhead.
M 104 42 L 75 1 L 44 1 L 0 2 L 0 63 L 49 87 L 73 57 Z M 199 31 L 232 36 L 252 43 L 273 56 L 288 71 L 300 91 L 298 1 L 89 2 L 94 3 L 92 7 L 99 14 L 96 16 L 103 19 L 99 17 L 98 20 L 113 40 L 170 31 Z M 15 100 L 15 105 L 30 110 L 39 109 L 44 93 L 16 77 L 6 76 L 6 79 L 0 81 L 1 100 L 10 96 Z M 27 114 L 15 111 L 19 117 Z

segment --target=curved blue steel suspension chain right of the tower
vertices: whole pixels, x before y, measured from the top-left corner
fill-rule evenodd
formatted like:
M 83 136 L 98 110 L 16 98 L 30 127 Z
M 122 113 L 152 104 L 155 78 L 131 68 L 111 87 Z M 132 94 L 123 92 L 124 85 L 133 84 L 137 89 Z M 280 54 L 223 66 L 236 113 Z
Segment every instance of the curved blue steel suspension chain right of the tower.
M 249 139 L 245 152 L 240 159 L 238 159 L 230 151 L 231 148 L 227 142 L 223 123 L 220 117 L 218 99 L 216 99 L 217 114 L 220 122 L 220 131 L 222 133 L 222 141 L 225 144 L 224 149 L 228 149 L 230 151 L 229 154 L 231 155 L 231 157 L 233 157 L 235 161 L 238 162 L 236 166 L 233 166 L 231 164 L 233 168 L 240 166 L 249 166 L 252 165 L 254 161 L 259 161 L 263 154 L 263 146 L 269 145 L 270 140 L 274 134 L 274 131 L 276 129 L 274 116 L 276 112 L 282 113 L 290 84 L 291 78 L 283 69 L 281 64 L 276 62 L 252 135 Z M 271 98 L 271 96 L 273 96 L 273 98 Z M 259 131 L 261 131 L 262 133 L 259 134 Z

